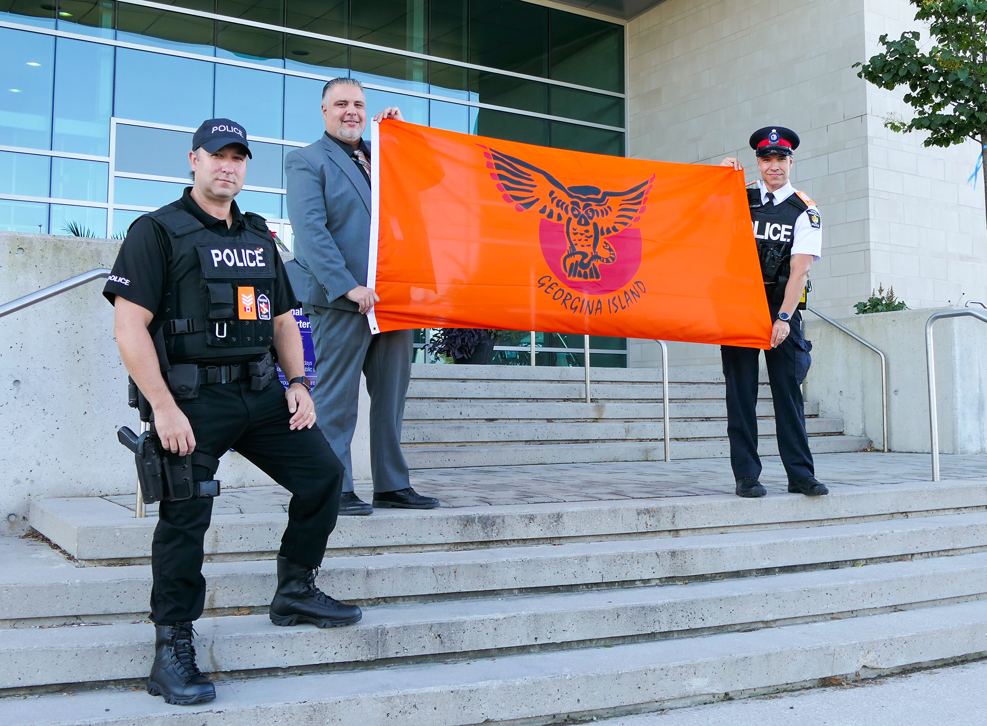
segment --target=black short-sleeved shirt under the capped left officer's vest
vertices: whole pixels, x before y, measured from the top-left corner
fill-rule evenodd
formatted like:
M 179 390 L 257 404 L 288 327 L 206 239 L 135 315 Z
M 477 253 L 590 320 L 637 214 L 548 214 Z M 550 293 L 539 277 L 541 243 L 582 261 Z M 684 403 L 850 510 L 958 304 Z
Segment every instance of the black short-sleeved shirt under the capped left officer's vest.
M 191 187 L 186 187 L 182 198 L 167 206 L 186 210 L 209 232 L 220 237 L 232 237 L 242 231 L 246 221 L 236 201 L 230 205 L 233 224 L 227 226 L 226 220 L 216 219 L 196 204 L 191 198 L 190 191 Z M 103 288 L 104 296 L 114 303 L 116 296 L 119 295 L 124 300 L 151 311 L 159 320 L 169 319 L 171 316 L 163 306 L 171 256 L 171 242 L 161 226 L 147 217 L 138 218 L 127 232 L 119 254 L 116 255 L 113 272 L 107 279 L 106 287 Z M 291 289 L 291 282 L 284 271 L 284 263 L 279 254 L 274 255 L 274 278 L 270 300 L 272 317 L 301 307 L 295 299 L 295 293 Z M 232 363 L 235 360 L 224 358 L 223 362 Z

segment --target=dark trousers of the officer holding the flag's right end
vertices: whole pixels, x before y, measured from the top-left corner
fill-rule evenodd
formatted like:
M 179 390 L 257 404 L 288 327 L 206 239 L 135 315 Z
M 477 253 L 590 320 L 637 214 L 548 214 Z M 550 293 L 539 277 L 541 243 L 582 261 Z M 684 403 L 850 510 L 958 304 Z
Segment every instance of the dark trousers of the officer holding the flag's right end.
M 779 306 L 769 306 L 772 320 Z M 777 348 L 764 351 L 768 381 L 775 405 L 778 451 L 789 481 L 815 475 L 805 433 L 805 407 L 799 386 L 805 380 L 812 357 L 812 343 L 802 335 L 801 313 L 792 316 L 792 331 Z M 761 351 L 721 345 L 726 378 L 726 435 L 730 441 L 730 466 L 734 478 L 761 475 L 757 455 L 757 368 Z

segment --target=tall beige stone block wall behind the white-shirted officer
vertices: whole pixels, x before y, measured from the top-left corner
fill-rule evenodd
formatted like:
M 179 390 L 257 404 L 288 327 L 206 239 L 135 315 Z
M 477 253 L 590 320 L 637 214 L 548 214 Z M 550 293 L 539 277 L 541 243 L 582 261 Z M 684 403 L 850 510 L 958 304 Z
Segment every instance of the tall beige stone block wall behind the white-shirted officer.
M 818 203 L 823 256 L 812 304 L 837 317 L 883 283 L 911 308 L 987 297 L 983 180 L 966 184 L 977 149 L 926 148 L 883 127 L 907 115 L 902 93 L 857 78 L 877 37 L 915 27 L 906 0 L 666 0 L 631 21 L 631 156 L 719 163 L 739 155 L 756 178 L 750 133 L 799 133 L 793 182 Z M 639 361 L 651 357 L 648 346 Z M 681 344 L 681 363 L 712 364 Z

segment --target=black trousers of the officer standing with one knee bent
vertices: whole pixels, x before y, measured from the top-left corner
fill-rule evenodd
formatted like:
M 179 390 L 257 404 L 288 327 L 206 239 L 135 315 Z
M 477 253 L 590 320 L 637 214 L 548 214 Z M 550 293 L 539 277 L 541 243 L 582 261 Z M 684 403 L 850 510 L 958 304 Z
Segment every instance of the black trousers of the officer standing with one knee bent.
M 196 451 L 219 459 L 235 449 L 291 492 L 279 554 L 318 567 L 336 527 L 343 475 L 319 427 L 288 429 L 291 414 L 276 379 L 264 391 L 251 391 L 249 381 L 202 386 L 197 399 L 179 401 L 179 407 L 189 417 Z M 201 467 L 194 468 L 194 475 L 195 480 L 209 478 Z M 211 497 L 158 505 L 151 543 L 151 619 L 159 625 L 202 615 L 202 544 L 211 515 Z

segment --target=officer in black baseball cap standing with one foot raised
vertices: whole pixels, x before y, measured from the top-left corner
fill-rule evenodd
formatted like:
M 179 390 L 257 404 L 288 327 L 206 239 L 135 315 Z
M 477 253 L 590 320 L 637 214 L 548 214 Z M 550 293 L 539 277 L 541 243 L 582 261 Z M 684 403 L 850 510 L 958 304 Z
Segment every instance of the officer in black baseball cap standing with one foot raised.
M 195 665 L 191 621 L 205 598 L 202 543 L 218 490 L 212 474 L 231 447 L 292 493 L 271 621 L 329 627 L 361 615 L 315 585 L 343 470 L 314 425 L 291 313 L 298 303 L 274 241 L 264 218 L 241 213 L 234 201 L 250 157 L 242 125 L 205 121 L 192 138 L 192 186 L 133 223 L 104 290 L 120 358 L 167 450 L 163 464 L 185 463 L 193 473 L 190 487 L 163 494 L 151 545 L 156 654 L 147 690 L 169 703 L 215 697 Z M 156 353 L 162 340 L 167 360 Z

